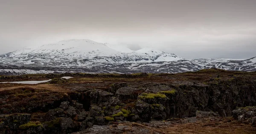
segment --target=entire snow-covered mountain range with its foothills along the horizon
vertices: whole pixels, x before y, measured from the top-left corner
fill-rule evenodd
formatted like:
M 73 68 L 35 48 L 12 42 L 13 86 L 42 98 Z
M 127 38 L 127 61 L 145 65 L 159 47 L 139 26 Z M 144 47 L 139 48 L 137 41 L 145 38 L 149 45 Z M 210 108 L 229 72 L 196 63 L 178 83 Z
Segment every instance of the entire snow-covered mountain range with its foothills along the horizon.
M 133 51 L 92 40 L 63 40 L 0 55 L 0 75 L 64 72 L 178 73 L 204 68 L 256 71 L 256 57 L 247 60 L 187 60 L 159 50 L 143 48 Z

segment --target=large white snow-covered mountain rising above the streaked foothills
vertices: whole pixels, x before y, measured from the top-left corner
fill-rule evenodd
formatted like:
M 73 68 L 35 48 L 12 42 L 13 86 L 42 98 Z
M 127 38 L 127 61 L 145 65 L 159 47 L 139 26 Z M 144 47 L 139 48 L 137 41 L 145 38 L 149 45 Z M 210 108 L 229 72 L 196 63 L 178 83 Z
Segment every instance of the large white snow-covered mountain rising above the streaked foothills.
M 2 64 L 34 66 L 84 66 L 91 63 L 141 63 L 183 59 L 175 54 L 148 50 L 137 52 L 116 51 L 105 44 L 92 40 L 64 40 L 0 55 Z

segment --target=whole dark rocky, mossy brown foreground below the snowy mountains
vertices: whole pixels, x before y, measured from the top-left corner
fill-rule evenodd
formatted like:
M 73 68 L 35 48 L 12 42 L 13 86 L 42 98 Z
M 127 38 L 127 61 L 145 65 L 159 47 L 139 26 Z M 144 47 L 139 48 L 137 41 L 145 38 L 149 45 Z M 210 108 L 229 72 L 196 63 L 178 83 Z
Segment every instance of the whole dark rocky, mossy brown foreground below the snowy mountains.
M 256 133 L 256 72 L 0 78 L 55 78 L 36 85 L 0 83 L 0 134 Z

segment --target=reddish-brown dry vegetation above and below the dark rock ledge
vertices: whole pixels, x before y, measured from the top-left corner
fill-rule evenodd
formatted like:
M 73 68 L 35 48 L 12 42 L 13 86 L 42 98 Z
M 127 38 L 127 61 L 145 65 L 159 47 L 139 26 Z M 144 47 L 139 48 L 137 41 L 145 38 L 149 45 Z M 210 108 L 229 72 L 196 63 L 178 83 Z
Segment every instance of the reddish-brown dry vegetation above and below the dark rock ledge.
M 112 74 L 108 74 L 112 75 Z M 119 74 L 113 74 L 118 76 Z M 138 74 L 133 74 L 138 75 Z M 222 71 L 219 69 L 201 70 L 198 72 L 188 72 L 180 74 L 148 74 L 144 77 L 105 77 L 104 74 L 101 77 L 83 77 L 70 74 L 74 77 L 64 83 L 49 84 L 42 83 L 36 85 L 29 84 L 15 84 L 15 83 L 0 83 L 0 114 L 20 112 L 20 109 L 26 112 L 34 112 L 34 118 L 37 114 L 51 109 L 40 109 L 39 102 L 43 102 L 42 105 L 52 105 L 55 100 L 64 100 L 70 94 L 76 94 L 77 91 L 85 89 L 101 89 L 108 91 L 113 83 L 140 83 L 140 82 L 161 82 L 161 83 L 175 83 L 175 84 L 218 84 L 223 80 L 229 80 L 230 82 L 240 80 L 241 78 L 247 78 L 250 80 L 256 80 L 256 72 L 236 72 L 236 71 Z M 11 76 L 5 76 L 11 77 Z M 3 77 L 2 77 L 3 78 Z M 48 80 L 46 75 L 24 75 L 22 77 L 12 77 L 0 79 L 0 82 L 6 81 L 23 81 L 23 80 Z M 135 93 L 136 91 L 134 91 Z M 138 92 L 137 94 L 139 94 Z M 163 95 L 163 94 L 161 94 Z M 134 105 L 132 103 L 127 105 Z M 28 108 L 32 107 L 30 111 Z M 17 110 L 17 108 L 19 110 Z M 32 120 L 36 121 L 36 120 Z M 122 125 L 122 124 L 121 124 Z M 255 134 L 256 128 L 253 128 L 250 124 L 241 124 L 233 118 L 216 118 L 198 120 L 195 123 L 177 123 L 172 122 L 169 125 L 159 125 L 153 127 L 150 124 L 123 124 L 136 126 L 138 128 L 148 128 L 152 132 L 158 132 L 161 134 Z

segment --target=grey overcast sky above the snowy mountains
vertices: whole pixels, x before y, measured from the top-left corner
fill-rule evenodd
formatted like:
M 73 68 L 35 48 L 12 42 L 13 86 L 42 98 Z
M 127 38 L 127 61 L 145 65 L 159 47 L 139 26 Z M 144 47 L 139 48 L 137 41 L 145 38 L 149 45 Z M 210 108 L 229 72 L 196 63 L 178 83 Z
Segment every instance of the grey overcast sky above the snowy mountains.
M 0 54 L 68 39 L 256 57 L 256 0 L 0 0 Z

